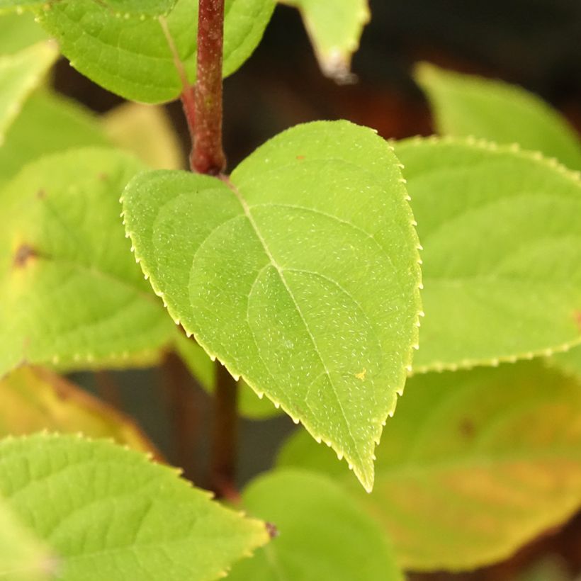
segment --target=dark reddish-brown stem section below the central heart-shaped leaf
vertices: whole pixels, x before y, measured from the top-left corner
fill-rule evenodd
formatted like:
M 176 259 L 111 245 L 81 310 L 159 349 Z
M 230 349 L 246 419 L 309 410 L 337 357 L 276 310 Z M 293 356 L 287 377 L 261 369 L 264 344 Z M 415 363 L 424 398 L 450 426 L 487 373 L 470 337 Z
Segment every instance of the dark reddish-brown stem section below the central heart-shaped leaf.
M 210 478 L 217 497 L 239 500 L 235 485 L 237 456 L 238 386 L 227 369 L 216 361 L 214 424 Z

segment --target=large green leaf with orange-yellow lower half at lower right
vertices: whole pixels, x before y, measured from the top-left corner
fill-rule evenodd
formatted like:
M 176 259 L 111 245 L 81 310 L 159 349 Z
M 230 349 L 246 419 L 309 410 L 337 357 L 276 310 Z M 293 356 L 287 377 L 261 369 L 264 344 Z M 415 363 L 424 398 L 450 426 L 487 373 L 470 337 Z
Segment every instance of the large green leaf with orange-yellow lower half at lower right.
M 536 361 L 409 380 L 364 495 L 298 434 L 280 463 L 325 470 L 393 538 L 412 570 L 511 555 L 581 504 L 581 385 Z

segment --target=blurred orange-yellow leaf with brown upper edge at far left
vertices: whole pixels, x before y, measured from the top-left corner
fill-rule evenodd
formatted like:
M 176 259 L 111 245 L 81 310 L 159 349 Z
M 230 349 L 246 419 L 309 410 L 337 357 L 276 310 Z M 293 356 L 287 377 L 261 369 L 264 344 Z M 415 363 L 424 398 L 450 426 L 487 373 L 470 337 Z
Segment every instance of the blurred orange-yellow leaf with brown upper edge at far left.
M 21 367 L 0 380 L 0 437 L 49 429 L 91 438 L 113 438 L 135 450 L 155 446 L 129 417 L 40 367 Z

